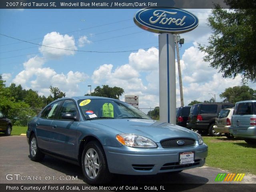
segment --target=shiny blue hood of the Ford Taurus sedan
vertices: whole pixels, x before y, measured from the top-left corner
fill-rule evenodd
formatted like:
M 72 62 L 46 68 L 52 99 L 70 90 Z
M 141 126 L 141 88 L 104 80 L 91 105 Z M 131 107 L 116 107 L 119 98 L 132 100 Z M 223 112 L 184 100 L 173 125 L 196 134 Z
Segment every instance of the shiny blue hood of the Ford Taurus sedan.
M 92 123 L 101 124 L 126 134 L 138 134 L 160 142 L 167 138 L 192 138 L 198 140 L 195 132 L 178 125 L 163 123 L 147 119 L 101 119 L 91 120 Z

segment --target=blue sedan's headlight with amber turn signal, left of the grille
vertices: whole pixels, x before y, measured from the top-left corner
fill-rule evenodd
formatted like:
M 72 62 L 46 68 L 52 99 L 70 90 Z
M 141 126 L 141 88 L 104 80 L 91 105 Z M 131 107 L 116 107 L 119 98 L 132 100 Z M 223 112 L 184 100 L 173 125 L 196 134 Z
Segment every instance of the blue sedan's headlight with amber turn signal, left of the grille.
M 144 136 L 135 134 L 118 134 L 116 139 L 123 145 L 136 148 L 156 148 L 154 141 Z

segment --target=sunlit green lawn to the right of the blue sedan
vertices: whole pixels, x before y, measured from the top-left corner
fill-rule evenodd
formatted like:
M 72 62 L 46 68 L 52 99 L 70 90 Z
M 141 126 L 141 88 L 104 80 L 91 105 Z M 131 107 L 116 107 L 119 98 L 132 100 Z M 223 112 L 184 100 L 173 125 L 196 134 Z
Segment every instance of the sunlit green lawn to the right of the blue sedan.
M 206 166 L 233 173 L 256 174 L 256 146 L 236 138 L 204 136 L 203 139 L 208 145 Z

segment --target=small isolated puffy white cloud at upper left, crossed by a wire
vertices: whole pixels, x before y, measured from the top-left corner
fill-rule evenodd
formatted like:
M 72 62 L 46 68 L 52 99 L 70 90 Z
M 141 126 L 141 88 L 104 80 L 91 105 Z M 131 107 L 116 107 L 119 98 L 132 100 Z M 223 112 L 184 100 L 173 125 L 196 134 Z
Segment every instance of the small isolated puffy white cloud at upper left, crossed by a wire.
M 67 34 L 61 35 L 58 32 L 51 32 L 44 36 L 42 45 L 39 50 L 42 52 L 44 56 L 65 56 L 65 55 L 74 55 L 77 50 L 75 46 L 75 40 L 73 36 L 69 36 Z M 62 48 L 62 49 L 54 49 L 54 48 Z M 70 49 L 70 50 L 64 50 Z

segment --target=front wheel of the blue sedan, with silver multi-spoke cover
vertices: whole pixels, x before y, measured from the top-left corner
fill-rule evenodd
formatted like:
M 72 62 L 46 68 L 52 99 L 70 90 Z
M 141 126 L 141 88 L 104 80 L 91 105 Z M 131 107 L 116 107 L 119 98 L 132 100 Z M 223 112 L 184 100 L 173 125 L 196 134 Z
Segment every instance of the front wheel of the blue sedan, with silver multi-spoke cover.
M 111 180 L 106 156 L 101 144 L 97 141 L 88 142 L 82 153 L 82 171 L 86 183 L 104 184 Z

